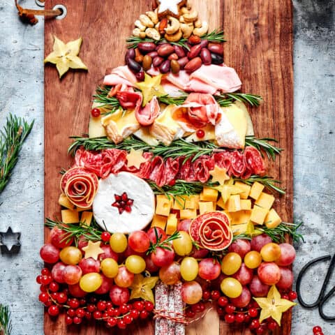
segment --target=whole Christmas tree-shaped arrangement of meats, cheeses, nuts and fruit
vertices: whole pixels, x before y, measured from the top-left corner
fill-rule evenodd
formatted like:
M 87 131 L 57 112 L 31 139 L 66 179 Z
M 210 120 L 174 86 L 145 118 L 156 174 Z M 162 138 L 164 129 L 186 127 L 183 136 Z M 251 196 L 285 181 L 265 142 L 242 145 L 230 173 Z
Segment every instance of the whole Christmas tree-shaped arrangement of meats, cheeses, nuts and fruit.
M 185 334 L 212 306 L 265 334 L 295 305 L 285 238 L 300 235 L 267 175 L 281 149 L 256 137 L 249 111 L 262 98 L 241 92 L 224 43 L 186 0 L 156 1 L 134 22 L 125 64 L 87 111 L 88 136 L 68 149 L 59 218 L 46 219 L 36 280 L 51 317 Z

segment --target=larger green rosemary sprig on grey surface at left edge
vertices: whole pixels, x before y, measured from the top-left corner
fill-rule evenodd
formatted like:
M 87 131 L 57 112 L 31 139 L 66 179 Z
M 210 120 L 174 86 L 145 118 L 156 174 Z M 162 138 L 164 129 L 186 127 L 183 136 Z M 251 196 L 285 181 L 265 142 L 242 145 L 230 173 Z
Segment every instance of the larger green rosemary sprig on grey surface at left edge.
M 0 193 L 8 184 L 23 142 L 33 126 L 34 121 L 28 124 L 25 119 L 10 114 L 7 117 L 6 126 L 4 126 L 3 131 L 0 131 Z

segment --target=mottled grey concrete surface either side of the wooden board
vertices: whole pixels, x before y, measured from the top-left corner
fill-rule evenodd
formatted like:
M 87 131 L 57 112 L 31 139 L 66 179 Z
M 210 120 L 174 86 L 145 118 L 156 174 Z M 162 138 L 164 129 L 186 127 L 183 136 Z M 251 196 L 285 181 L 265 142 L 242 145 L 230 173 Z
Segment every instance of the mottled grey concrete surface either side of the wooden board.
M 277 1 L 277 0 L 275 0 Z M 0 127 L 12 112 L 35 119 L 13 178 L 0 195 L 0 231 L 22 232 L 19 255 L 0 254 L 0 301 L 13 315 L 13 335 L 43 334 L 43 308 L 37 301 L 43 267 L 43 20 L 22 24 L 13 0 L 0 1 Z M 35 7 L 34 0 L 22 1 Z M 304 221 L 306 243 L 298 246 L 295 272 L 312 258 L 334 254 L 335 1 L 295 0 L 295 217 Z M 326 267 L 304 281 L 306 300 L 320 287 Z M 335 285 L 335 276 L 330 288 Z M 316 292 L 319 292 L 316 290 Z M 335 310 L 335 299 L 326 311 Z M 335 334 L 334 323 L 318 311 L 294 309 L 292 334 L 312 334 L 320 325 Z

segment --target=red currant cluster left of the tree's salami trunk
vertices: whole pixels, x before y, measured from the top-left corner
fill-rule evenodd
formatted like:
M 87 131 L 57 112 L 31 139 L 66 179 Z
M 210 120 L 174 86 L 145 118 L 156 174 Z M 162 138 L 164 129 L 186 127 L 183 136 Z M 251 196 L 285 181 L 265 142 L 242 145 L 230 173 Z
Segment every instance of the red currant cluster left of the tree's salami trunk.
M 62 289 L 59 283 L 53 281 L 47 268 L 42 269 L 36 281 L 41 290 L 38 299 L 47 308 L 47 313 L 57 316 L 61 311 L 66 311 L 66 325 L 80 325 L 83 320 L 94 319 L 104 321 L 106 327 L 126 329 L 134 320 L 148 318 L 154 310 L 154 304 L 150 301 L 115 306 L 112 301 L 97 299 L 95 296 L 71 297 L 67 288 Z

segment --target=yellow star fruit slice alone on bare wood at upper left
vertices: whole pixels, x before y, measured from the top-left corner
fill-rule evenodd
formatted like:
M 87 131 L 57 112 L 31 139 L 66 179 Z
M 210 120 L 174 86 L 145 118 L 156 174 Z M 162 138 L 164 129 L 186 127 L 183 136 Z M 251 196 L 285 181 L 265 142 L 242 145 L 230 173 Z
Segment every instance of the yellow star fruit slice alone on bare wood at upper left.
M 81 68 L 82 70 L 87 70 L 86 65 L 77 56 L 80 52 L 81 45 L 82 38 L 72 40 L 65 44 L 59 40 L 59 38 L 54 36 L 54 51 L 45 58 L 44 63 L 56 64 L 60 78 L 69 68 Z

